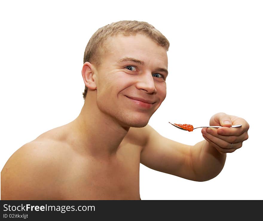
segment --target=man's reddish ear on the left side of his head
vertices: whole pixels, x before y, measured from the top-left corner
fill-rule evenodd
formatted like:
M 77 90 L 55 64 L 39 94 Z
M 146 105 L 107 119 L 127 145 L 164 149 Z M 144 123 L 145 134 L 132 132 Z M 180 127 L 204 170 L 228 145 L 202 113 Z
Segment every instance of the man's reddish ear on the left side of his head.
M 95 90 L 97 88 L 94 80 L 94 70 L 95 68 L 90 62 L 85 62 L 81 71 L 84 84 L 91 90 Z

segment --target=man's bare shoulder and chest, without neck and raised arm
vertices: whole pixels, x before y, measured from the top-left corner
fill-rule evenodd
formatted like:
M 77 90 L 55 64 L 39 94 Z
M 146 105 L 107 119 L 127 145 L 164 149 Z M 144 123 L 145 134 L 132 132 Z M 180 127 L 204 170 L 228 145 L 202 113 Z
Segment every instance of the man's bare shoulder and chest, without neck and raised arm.
M 2 181 L 1 199 L 140 199 L 142 147 L 131 132 L 115 154 L 95 157 L 71 131 L 71 123 L 52 129 L 16 151 L 2 171 L 12 179 Z

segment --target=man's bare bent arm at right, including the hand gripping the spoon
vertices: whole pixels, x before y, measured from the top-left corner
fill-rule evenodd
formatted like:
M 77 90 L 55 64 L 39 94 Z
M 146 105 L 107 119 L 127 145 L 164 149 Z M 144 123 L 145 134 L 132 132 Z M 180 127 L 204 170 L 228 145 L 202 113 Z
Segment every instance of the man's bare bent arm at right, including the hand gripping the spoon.
M 248 139 L 249 124 L 243 118 L 220 112 L 210 119 L 210 125 L 221 128 L 203 128 L 205 140 L 194 146 L 167 139 L 147 125 L 142 145 L 141 163 L 149 168 L 195 181 L 216 177 L 224 167 L 226 153 L 233 153 Z M 230 128 L 231 125 L 242 125 Z

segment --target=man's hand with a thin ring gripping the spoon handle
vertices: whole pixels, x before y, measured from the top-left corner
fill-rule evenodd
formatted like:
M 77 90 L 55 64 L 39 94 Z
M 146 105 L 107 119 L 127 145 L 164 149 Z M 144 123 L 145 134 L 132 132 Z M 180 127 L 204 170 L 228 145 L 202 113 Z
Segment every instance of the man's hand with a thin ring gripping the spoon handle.
M 238 128 L 229 128 L 241 124 Z M 242 147 L 242 142 L 248 139 L 249 124 L 242 118 L 216 113 L 210 119 L 210 126 L 223 126 L 222 128 L 203 128 L 202 134 L 209 144 L 221 154 L 232 153 Z

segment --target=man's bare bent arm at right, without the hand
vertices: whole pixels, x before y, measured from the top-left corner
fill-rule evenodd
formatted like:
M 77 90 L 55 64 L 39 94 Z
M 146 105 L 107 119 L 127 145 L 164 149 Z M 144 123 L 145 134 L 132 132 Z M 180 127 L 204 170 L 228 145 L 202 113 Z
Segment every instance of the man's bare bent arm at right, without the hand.
M 224 167 L 226 154 L 220 154 L 203 140 L 185 145 L 161 136 L 151 126 L 144 128 L 147 142 L 141 163 L 154 170 L 194 181 L 216 177 Z

